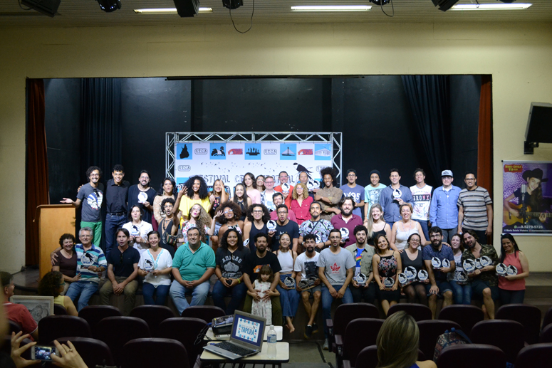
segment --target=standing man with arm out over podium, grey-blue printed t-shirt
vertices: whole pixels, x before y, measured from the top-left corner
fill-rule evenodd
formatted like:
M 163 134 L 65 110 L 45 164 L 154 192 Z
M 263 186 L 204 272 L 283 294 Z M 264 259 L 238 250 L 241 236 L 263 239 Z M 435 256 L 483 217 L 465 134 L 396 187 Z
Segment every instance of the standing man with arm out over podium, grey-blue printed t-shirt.
M 80 228 L 91 228 L 94 236 L 92 243 L 99 247 L 102 239 L 101 210 L 104 193 L 103 184 L 100 183 L 102 170 L 97 166 L 88 167 L 86 177 L 90 182 L 80 186 L 77 199 L 73 201 L 71 198 L 64 198 L 61 203 L 73 204 L 76 208 L 82 204 L 82 209 L 80 210 Z

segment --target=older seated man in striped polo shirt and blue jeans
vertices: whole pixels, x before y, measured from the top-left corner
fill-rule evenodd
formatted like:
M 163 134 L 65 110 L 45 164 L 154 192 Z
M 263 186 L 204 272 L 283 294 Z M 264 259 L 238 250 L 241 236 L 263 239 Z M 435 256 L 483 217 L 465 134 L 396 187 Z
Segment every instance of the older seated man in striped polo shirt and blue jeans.
M 78 298 L 77 310 L 80 311 L 88 305 L 88 300 L 98 290 L 100 283 L 99 274 L 105 271 L 108 262 L 99 246 L 92 243 L 92 229 L 80 228 L 78 238 L 81 243 L 75 246 L 77 252 L 77 275 L 80 280 L 71 283 L 66 295 L 73 300 Z

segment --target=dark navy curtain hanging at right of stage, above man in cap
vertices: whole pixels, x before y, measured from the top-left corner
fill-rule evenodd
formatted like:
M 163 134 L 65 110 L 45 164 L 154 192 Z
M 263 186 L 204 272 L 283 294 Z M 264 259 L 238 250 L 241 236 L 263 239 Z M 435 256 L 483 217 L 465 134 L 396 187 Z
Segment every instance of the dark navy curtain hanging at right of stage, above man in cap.
M 434 178 L 451 168 L 450 93 L 447 75 L 402 75 L 420 145 Z

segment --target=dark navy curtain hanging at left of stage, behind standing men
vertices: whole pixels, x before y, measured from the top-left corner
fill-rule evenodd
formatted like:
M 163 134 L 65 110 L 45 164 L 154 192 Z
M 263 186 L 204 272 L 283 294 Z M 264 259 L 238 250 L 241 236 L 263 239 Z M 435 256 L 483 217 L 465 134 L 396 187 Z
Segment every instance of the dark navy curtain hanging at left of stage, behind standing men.
M 83 78 L 81 85 L 80 173 L 83 183 L 88 182 L 86 169 L 98 166 L 103 170 L 101 182 L 105 183 L 113 166 L 122 163 L 121 81 Z

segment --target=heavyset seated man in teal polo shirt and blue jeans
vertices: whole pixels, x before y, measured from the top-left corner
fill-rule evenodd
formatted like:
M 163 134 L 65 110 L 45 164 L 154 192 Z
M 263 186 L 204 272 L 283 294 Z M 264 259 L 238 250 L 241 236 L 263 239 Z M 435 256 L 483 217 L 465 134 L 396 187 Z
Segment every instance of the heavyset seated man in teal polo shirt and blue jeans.
M 177 249 L 172 260 L 172 275 L 175 280 L 170 287 L 172 303 L 179 315 L 190 305 L 204 305 L 211 284 L 209 278 L 214 273 L 214 251 L 201 242 L 199 228 L 188 228 L 188 242 Z M 186 295 L 192 295 L 188 303 Z

